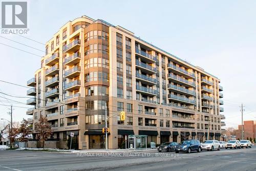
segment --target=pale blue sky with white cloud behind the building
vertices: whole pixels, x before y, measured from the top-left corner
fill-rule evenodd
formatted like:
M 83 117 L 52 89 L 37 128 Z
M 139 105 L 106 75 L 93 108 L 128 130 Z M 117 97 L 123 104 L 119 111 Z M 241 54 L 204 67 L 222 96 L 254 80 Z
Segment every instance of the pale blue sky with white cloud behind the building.
M 182 58 L 221 79 L 226 127 L 256 120 L 256 1 L 28 1 L 28 40 L 18 35 L 0 36 L 0 80 L 26 86 L 40 67 L 47 42 L 58 29 L 82 15 L 103 19 Z M 3 38 L 5 37 L 5 38 Z M 11 40 L 39 49 L 35 50 Z M 6 44 L 24 51 L 7 47 Z M 29 88 L 0 81 L 0 92 L 26 97 Z M 4 97 L 4 98 L 3 98 Z M 27 98 L 0 94 L 0 118 L 10 120 L 10 100 Z M 1 105 L 2 104 L 2 105 Z M 30 105 L 16 104 L 31 108 Z M 29 118 L 27 109 L 14 107 L 13 120 Z

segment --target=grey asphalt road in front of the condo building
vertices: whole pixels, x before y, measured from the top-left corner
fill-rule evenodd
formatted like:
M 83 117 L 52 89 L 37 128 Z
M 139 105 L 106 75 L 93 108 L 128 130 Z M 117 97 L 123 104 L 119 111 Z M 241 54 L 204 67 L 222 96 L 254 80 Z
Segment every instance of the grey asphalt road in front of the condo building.
M 112 155 L 112 156 L 109 156 Z M 57 153 L 0 150 L 0 170 L 256 170 L 256 147 L 201 153 Z

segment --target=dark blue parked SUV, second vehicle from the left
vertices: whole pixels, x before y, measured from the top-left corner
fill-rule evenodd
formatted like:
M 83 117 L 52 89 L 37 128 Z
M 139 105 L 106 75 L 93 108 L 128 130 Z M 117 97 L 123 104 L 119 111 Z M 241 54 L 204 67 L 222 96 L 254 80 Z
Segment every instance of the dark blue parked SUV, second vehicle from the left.
M 201 152 L 201 143 L 198 140 L 184 140 L 178 145 L 176 145 L 175 153 L 179 152 L 187 152 L 191 153 L 191 151 Z

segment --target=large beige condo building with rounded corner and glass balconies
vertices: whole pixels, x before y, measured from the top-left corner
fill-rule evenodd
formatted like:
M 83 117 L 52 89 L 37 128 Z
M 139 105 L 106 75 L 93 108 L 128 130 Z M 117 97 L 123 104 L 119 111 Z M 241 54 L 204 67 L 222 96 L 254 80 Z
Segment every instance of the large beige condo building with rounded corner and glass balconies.
M 46 42 L 41 67 L 27 82 L 33 96 L 29 123 L 46 116 L 54 134 L 48 145 L 66 147 L 70 133 L 79 149 L 104 148 L 105 103 L 115 115 L 109 148 L 124 148 L 125 136 L 147 142 L 221 138 L 225 119 L 220 79 L 202 68 L 101 19 L 82 16 Z M 34 127 L 33 127 L 34 129 Z M 33 130 L 35 138 L 36 132 Z M 203 136 L 198 136 L 203 135 Z

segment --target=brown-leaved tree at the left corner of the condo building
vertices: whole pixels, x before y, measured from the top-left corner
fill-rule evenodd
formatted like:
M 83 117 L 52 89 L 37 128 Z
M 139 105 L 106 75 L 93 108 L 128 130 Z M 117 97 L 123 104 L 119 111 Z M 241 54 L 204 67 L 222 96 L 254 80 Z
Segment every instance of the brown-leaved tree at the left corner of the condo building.
M 45 149 L 45 141 L 53 132 L 46 117 L 41 116 L 38 121 L 35 123 L 36 139 L 42 142 L 42 146 Z

